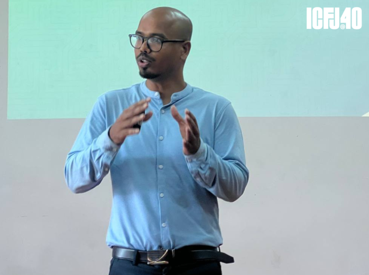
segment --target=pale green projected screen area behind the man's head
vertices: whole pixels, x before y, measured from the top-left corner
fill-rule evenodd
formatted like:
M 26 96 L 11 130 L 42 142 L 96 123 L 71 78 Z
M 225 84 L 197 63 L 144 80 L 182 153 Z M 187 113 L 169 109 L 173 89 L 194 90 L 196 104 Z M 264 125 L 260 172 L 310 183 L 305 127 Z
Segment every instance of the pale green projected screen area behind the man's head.
M 192 21 L 184 80 L 238 116 L 369 115 L 368 0 L 9 0 L 8 119 L 84 118 L 144 81 L 128 34 L 158 6 Z M 317 29 L 315 7 L 360 7 L 362 27 Z

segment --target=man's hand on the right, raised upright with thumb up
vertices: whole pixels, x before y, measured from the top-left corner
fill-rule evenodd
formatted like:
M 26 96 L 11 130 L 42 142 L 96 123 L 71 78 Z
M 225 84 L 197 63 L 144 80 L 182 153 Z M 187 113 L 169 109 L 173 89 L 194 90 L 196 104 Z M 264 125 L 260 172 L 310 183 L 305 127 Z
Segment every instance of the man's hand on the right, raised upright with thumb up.
M 186 109 L 184 111 L 185 119 L 183 119 L 174 105 L 172 105 L 170 111 L 180 126 L 184 155 L 195 154 L 200 148 L 200 131 L 199 126 L 197 125 L 196 117 L 188 109 Z

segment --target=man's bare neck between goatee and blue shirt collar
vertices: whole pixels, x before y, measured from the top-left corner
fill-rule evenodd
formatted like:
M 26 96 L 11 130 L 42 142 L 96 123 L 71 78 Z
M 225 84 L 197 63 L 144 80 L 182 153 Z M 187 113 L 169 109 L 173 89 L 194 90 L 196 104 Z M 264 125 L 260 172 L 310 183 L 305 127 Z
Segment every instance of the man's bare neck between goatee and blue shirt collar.
M 148 79 L 146 86 L 152 91 L 158 91 L 161 99 L 170 99 L 172 94 L 182 91 L 186 87 L 183 75 L 178 78 L 155 81 Z

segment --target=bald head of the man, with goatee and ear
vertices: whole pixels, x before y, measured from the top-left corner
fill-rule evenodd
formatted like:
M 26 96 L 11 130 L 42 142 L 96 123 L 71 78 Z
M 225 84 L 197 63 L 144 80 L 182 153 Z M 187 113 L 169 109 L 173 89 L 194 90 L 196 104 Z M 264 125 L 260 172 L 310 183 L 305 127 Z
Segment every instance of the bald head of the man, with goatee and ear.
M 163 37 L 153 33 L 160 33 Z M 184 42 L 164 42 L 161 50 L 154 52 L 149 49 L 146 39 L 140 49 L 134 49 L 142 78 L 159 81 L 183 74 L 184 63 L 191 49 L 192 36 L 191 20 L 184 13 L 171 7 L 154 8 L 141 18 L 136 34 L 163 40 L 184 40 Z M 146 57 L 151 62 L 141 67 L 139 61 L 141 57 Z

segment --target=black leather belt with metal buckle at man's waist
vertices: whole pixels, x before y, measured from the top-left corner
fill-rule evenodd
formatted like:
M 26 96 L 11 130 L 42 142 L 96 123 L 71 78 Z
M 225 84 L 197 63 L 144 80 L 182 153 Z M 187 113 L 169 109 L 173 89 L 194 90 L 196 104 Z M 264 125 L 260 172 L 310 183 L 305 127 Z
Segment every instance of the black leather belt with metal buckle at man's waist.
M 192 260 L 216 260 L 222 263 L 234 263 L 234 258 L 218 251 L 218 247 L 186 246 L 178 249 L 160 249 L 142 251 L 123 247 L 113 247 L 113 257 L 131 260 L 135 263 L 144 262 L 148 265 L 162 265 L 172 262 Z

